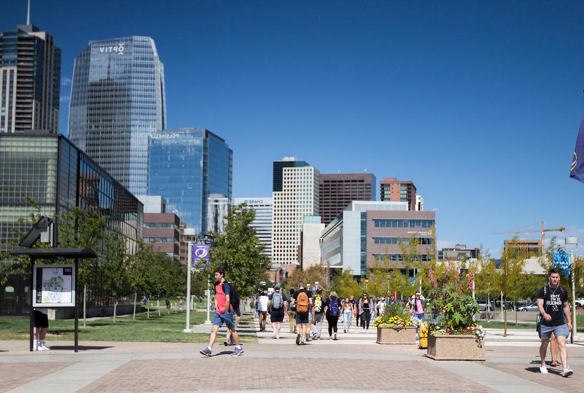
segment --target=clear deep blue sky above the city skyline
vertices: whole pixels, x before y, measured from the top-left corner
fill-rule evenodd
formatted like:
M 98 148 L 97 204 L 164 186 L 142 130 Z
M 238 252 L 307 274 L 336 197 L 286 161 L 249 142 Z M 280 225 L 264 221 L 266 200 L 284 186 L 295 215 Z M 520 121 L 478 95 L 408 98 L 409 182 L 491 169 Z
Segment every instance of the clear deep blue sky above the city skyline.
M 493 231 L 541 220 L 584 242 L 584 184 L 568 176 L 584 112 L 583 11 L 543 1 L 32 0 L 32 23 L 62 49 L 63 134 L 68 78 L 88 41 L 151 36 L 168 127 L 225 138 L 234 197 L 269 196 L 283 156 L 322 173 L 367 169 L 415 183 L 425 210 L 437 209 L 440 246 L 497 255 L 505 237 Z M 26 0 L 6 1 L 0 27 L 25 18 Z

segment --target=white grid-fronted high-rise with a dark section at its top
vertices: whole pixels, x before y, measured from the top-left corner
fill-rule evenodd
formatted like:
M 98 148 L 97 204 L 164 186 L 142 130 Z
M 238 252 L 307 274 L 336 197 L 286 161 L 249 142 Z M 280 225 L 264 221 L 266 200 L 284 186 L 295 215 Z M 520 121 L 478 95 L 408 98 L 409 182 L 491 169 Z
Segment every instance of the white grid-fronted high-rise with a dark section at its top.
M 300 164 L 303 163 L 303 164 Z M 278 164 L 278 165 L 276 165 Z M 272 262 L 300 265 L 300 233 L 307 215 L 318 215 L 319 172 L 304 161 L 274 162 L 274 172 L 281 167 L 281 186 L 274 181 Z M 291 165 L 290 165 L 291 164 Z M 274 180 L 279 176 L 274 173 Z

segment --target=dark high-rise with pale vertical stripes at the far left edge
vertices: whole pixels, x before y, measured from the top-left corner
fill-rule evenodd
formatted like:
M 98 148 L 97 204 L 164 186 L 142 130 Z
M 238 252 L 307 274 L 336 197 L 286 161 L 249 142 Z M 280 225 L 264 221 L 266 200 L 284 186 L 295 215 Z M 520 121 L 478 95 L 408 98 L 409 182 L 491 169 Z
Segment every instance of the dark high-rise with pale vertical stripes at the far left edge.
M 0 133 L 59 132 L 61 50 L 30 25 L 0 35 Z

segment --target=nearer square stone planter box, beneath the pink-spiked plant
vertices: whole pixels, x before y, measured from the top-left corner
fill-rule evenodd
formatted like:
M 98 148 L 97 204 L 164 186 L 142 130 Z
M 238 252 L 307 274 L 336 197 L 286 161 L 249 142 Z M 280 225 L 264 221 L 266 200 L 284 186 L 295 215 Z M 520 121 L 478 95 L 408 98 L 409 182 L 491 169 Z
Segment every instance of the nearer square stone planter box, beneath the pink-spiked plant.
M 434 360 L 485 360 L 485 342 L 474 335 L 429 335 L 426 356 Z

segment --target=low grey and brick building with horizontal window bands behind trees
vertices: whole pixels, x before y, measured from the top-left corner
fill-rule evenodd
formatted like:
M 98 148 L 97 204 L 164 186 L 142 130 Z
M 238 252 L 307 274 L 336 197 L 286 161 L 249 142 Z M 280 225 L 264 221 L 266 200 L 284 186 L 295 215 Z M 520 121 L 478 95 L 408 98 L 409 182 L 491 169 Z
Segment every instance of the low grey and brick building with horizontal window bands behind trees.
M 321 263 L 356 276 L 380 261 L 395 263 L 401 269 L 404 255 L 398 241 L 407 244 L 413 237 L 419 242 L 418 253 L 425 261 L 432 258 L 434 211 L 408 211 L 407 202 L 353 201 L 321 235 Z

